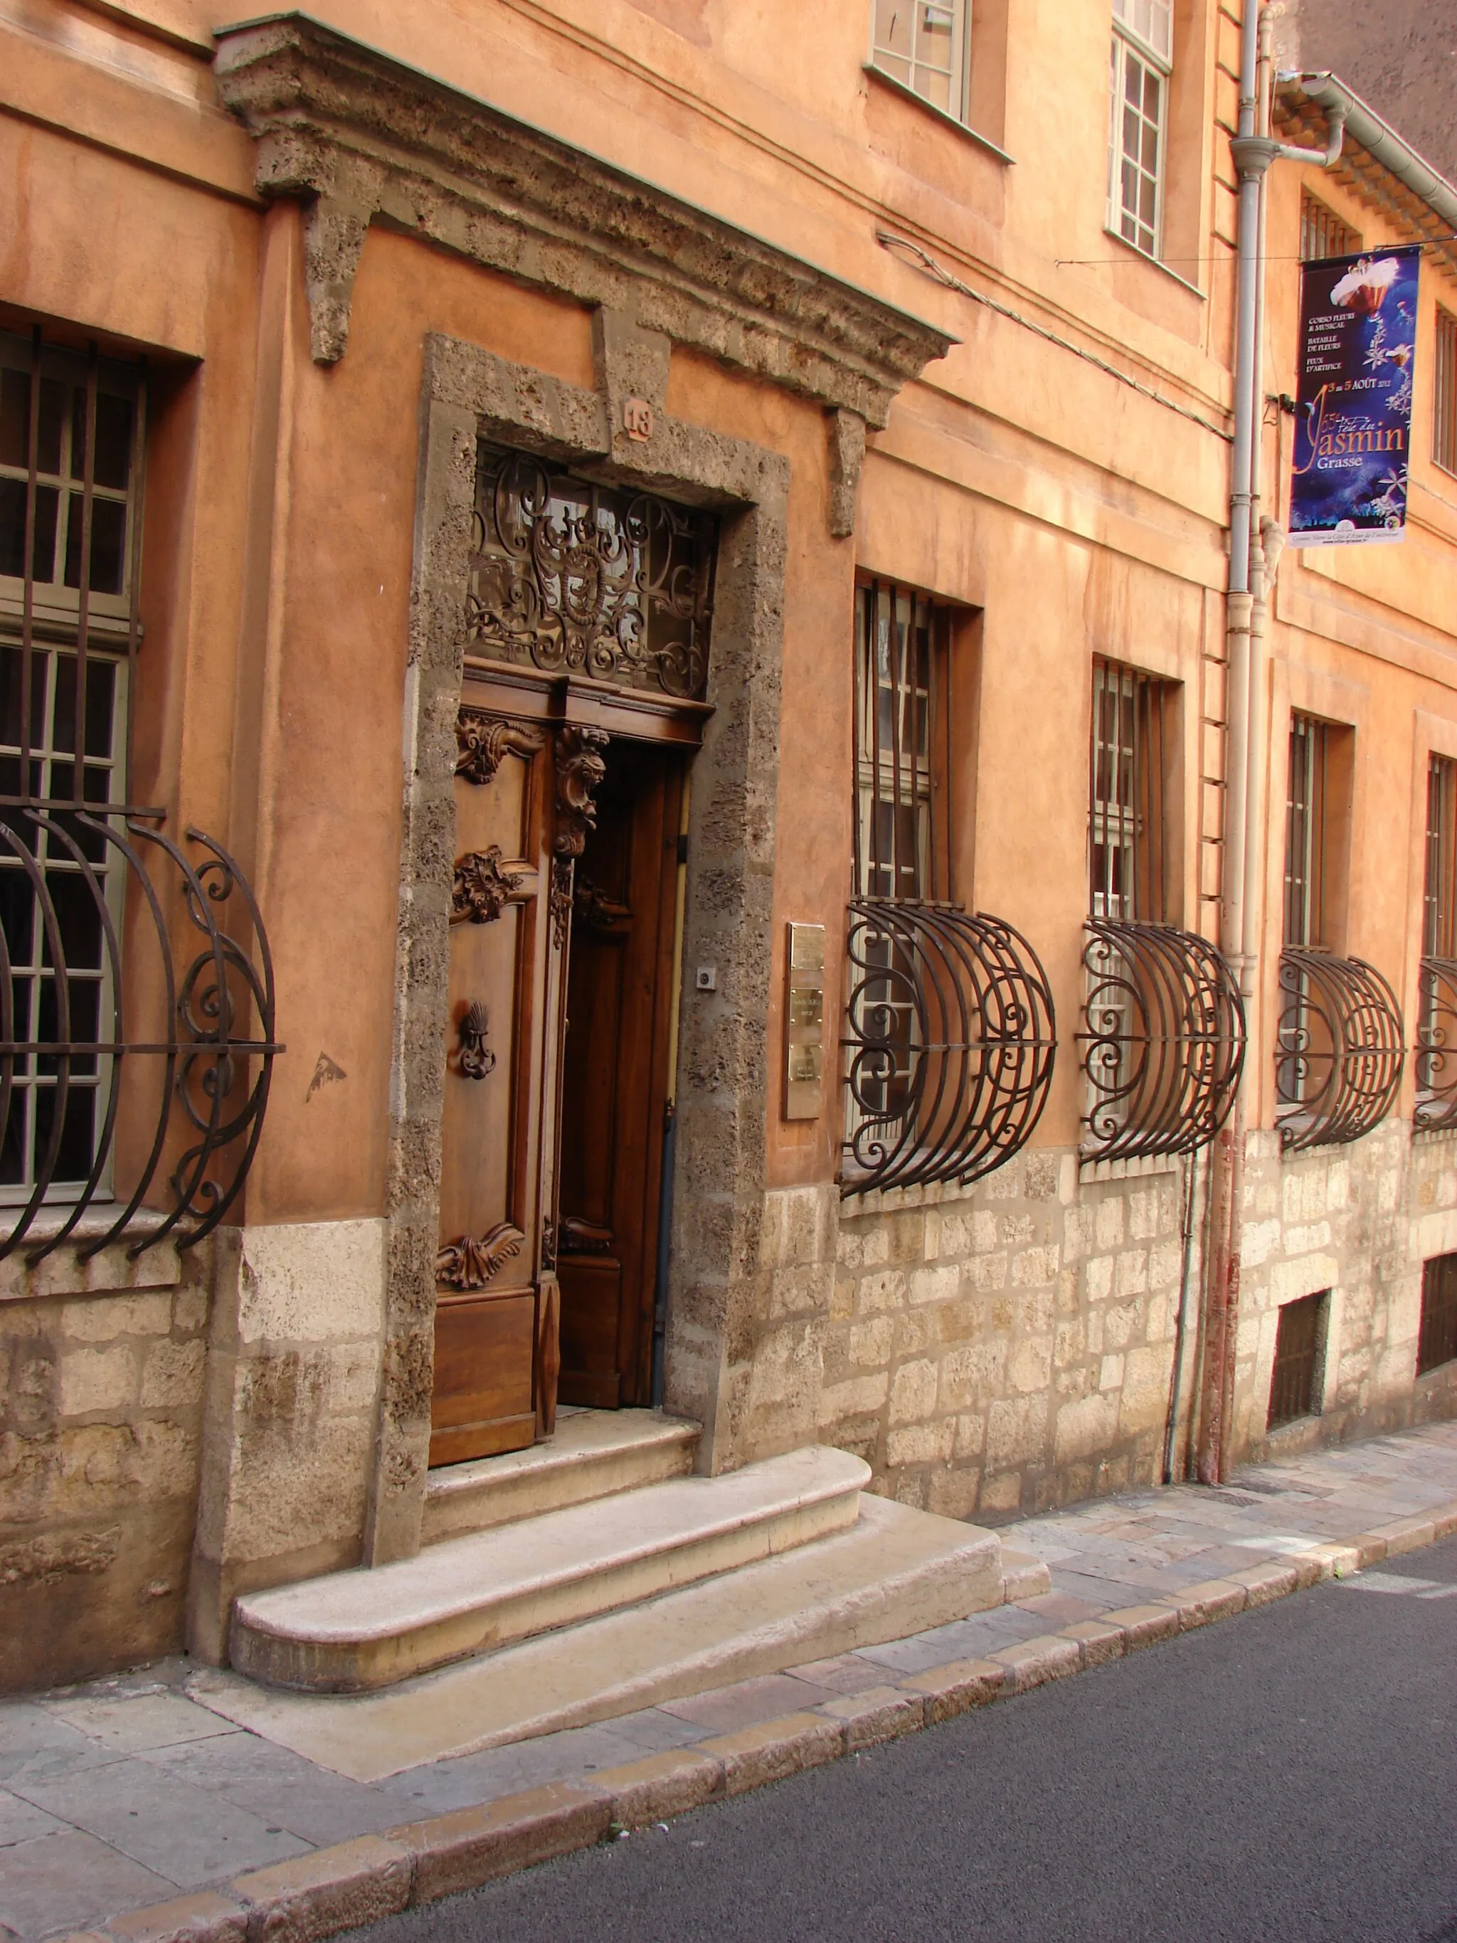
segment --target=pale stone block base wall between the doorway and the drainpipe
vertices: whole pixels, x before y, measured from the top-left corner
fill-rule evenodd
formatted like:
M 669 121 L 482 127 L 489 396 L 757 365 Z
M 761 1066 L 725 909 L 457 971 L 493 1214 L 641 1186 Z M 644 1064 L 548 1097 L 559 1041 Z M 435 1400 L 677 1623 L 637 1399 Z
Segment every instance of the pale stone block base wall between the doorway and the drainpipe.
M 1086 1181 L 1076 1154 L 1043 1150 L 919 1205 L 845 1203 L 822 1440 L 863 1455 L 874 1490 L 952 1517 L 1006 1519 L 1152 1483 L 1181 1187 L 1181 1172 Z M 1191 1290 L 1197 1277 L 1195 1251 Z

